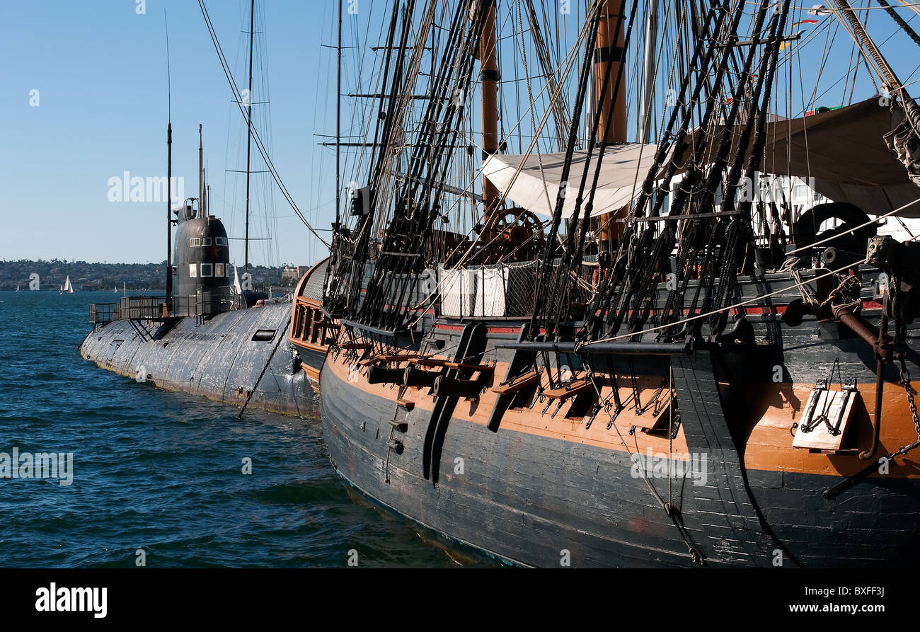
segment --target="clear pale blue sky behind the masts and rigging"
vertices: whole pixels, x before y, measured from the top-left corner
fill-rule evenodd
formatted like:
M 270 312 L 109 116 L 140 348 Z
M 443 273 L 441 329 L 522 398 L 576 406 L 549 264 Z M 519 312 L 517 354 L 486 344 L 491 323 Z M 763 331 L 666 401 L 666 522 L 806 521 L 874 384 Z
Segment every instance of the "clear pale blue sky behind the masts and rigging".
M 242 87 L 247 35 L 240 31 L 248 26 L 249 3 L 210 0 L 207 5 Z M 262 45 L 257 49 L 264 50 L 268 60 L 270 110 L 255 106 L 254 117 L 259 132 L 271 138 L 273 163 L 294 200 L 316 228 L 327 229 L 334 217 L 334 152 L 318 147 L 328 139 L 315 134 L 334 132 L 334 57 L 320 44 L 335 43 L 338 2 L 269 0 L 264 5 L 265 33 L 256 37 Z M 345 15 L 345 44 L 374 45 L 385 22 L 385 2 L 359 0 L 359 6 L 359 16 Z M 245 133 L 198 3 L 146 0 L 145 13 L 139 15 L 137 0 L 7 0 L 0 4 L 0 22 L 6 27 L 0 39 L 0 259 L 165 259 L 165 202 L 109 201 L 109 178 L 121 177 L 124 171 L 142 178 L 166 175 L 164 8 L 172 71 L 173 174 L 185 178 L 186 196 L 197 196 L 202 123 L 212 185 L 210 210 L 222 217 L 230 236 L 243 236 L 243 179 L 225 169 L 245 168 Z M 914 26 L 920 22 L 908 10 L 903 16 Z M 795 19 L 804 17 L 809 16 L 797 13 Z M 374 26 L 365 34 L 368 24 Z M 890 18 L 877 10 L 871 11 L 870 30 L 875 25 L 880 40 L 897 32 Z M 823 35 L 814 38 L 797 58 L 808 86 L 817 75 L 825 41 Z M 835 35 L 834 46 L 840 54 L 823 69 L 817 94 L 822 95 L 824 86 L 834 88 L 818 98 L 817 105 L 839 105 L 844 98 L 839 78 L 850 63 L 852 43 L 843 29 Z M 902 35 L 896 35 L 885 51 L 903 77 L 916 72 L 916 49 Z M 356 88 L 351 76 L 360 54 L 366 51 L 347 52 L 351 63 L 345 64 L 343 92 L 373 87 L 365 76 L 364 86 Z M 855 100 L 868 98 L 873 90 L 865 70 L 861 73 Z M 910 81 L 917 78 L 913 75 Z M 38 107 L 30 105 L 32 90 L 39 91 Z M 255 101 L 263 98 L 255 91 Z M 512 98 L 512 93 L 503 98 Z M 345 108 L 343 134 L 357 132 L 362 117 L 352 119 L 348 103 Z M 259 120 L 269 111 L 270 132 L 260 127 L 267 120 Z M 260 168 L 257 163 L 258 159 L 253 168 Z M 343 182 L 348 180 L 345 174 L 343 170 Z M 251 224 L 257 237 L 267 235 L 259 210 L 259 203 L 270 197 L 265 178 L 254 179 L 256 216 Z M 277 227 L 268 227 L 273 241 L 254 243 L 251 261 L 306 265 L 323 256 L 322 247 L 282 196 L 274 197 Z M 231 257 L 242 263 L 241 242 L 232 243 Z

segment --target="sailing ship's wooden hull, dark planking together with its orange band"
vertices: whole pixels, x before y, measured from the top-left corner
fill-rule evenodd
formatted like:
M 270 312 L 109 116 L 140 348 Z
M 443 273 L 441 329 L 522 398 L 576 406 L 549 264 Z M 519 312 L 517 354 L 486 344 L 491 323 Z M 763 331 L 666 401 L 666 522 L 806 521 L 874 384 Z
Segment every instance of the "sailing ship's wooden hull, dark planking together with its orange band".
M 763 293 L 764 288 L 745 291 Z M 866 407 L 871 406 L 875 374 L 867 342 L 839 323 L 813 318 L 797 327 L 780 323 L 775 308 L 785 308 L 788 298 L 755 305 L 749 313 L 757 344 L 712 345 L 673 357 L 680 439 L 687 454 L 699 456 L 696 474 L 681 477 L 685 463 L 667 454 L 639 462 L 636 454 L 646 451 L 638 442 L 648 438 L 638 431 L 636 436 L 643 438 L 636 450 L 626 431 L 627 449 L 608 449 L 584 440 L 586 418 L 579 417 L 569 424 L 570 436 L 560 439 L 543 429 L 558 426 L 566 408 L 557 410 L 557 418 L 540 402 L 529 413 L 515 413 L 536 419 L 527 428 L 505 419 L 493 432 L 484 423 L 488 409 L 476 412 L 477 406 L 490 408 L 491 401 L 458 397 L 443 437 L 436 440 L 441 441 L 440 454 L 426 475 L 431 456 L 425 444 L 431 439 L 436 417 L 431 402 L 436 400 L 422 389 L 413 396 L 420 406 L 400 408 L 397 398 L 404 396 L 397 395 L 399 386 L 368 385 L 366 373 L 356 372 L 354 358 L 346 358 L 344 351 L 331 353 L 321 373 L 330 458 L 347 483 L 377 502 L 521 566 L 915 566 L 920 563 L 916 454 L 898 457 L 891 476 L 873 474 L 825 498 L 826 490 L 870 462 L 852 453 L 810 454 L 791 445 L 790 426 L 811 386 L 836 365 L 843 380 L 857 382 L 863 392 L 853 436 L 866 449 L 872 430 Z M 878 310 L 872 311 L 870 297 L 865 300 L 868 320 L 875 323 Z M 435 337 L 446 336 L 443 349 L 454 347 L 465 325 L 434 323 Z M 509 362 L 511 351 L 497 345 L 513 341 L 517 325 L 487 325 L 487 359 Z M 454 333 L 444 334 L 445 329 Z M 909 331 L 907 362 L 914 377 L 920 375 L 916 333 L 915 327 Z M 575 354 L 559 358 L 576 372 L 578 362 Z M 610 362 L 616 373 L 627 371 L 624 357 Z M 661 357 L 632 356 L 630 362 L 628 370 L 641 375 L 663 379 L 667 373 Z M 489 384 L 499 384 L 503 373 L 496 374 Z M 916 439 L 893 365 L 886 382 L 888 408 L 876 458 Z M 615 438 L 615 430 L 604 431 L 608 418 L 609 411 L 601 412 L 592 432 Z M 394 431 L 394 420 L 404 421 L 405 430 Z M 401 443 L 399 451 L 391 443 L 394 437 Z M 662 444 L 667 452 L 667 441 Z M 643 477 L 637 465 L 646 474 L 655 468 L 664 474 Z M 676 476 L 667 475 L 669 467 Z

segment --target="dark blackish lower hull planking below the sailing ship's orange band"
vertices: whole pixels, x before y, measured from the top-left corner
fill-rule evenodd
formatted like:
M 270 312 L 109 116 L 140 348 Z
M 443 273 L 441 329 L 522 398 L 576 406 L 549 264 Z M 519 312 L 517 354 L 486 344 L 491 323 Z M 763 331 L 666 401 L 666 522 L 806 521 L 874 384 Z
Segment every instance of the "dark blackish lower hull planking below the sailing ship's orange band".
M 433 531 L 523 566 L 558 567 L 567 552 L 573 567 L 696 566 L 680 530 L 633 476 L 629 454 L 451 419 L 435 486 L 422 476 L 424 428 L 412 413 L 405 451 L 396 454 L 387 446 L 392 401 L 350 388 L 327 369 L 322 384 L 323 431 L 340 476 Z M 707 566 L 920 561 L 920 537 L 909 528 L 920 515 L 917 479 L 870 479 L 829 502 L 822 490 L 840 477 L 742 474 L 727 430 L 718 436 L 718 423 L 707 430 L 699 437 L 709 442 L 707 485 L 670 481 L 687 540 Z M 667 479 L 650 482 L 668 498 Z

